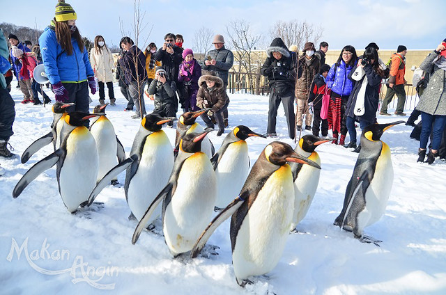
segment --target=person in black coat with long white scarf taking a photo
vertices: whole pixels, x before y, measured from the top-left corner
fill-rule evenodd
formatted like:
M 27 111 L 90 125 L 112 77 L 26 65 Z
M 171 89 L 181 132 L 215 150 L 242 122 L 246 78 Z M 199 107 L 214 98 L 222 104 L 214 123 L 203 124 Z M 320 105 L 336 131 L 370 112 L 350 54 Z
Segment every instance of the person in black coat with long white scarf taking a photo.
M 379 88 L 383 77 L 384 72 L 378 63 L 378 52 L 374 48 L 367 48 L 357 65 L 348 74 L 348 79 L 355 81 L 355 86 L 346 104 L 344 120 L 346 120 L 350 135 L 350 143 L 346 145 L 346 148 L 356 148 L 355 120 L 360 122 L 361 129 L 374 124 L 379 102 Z

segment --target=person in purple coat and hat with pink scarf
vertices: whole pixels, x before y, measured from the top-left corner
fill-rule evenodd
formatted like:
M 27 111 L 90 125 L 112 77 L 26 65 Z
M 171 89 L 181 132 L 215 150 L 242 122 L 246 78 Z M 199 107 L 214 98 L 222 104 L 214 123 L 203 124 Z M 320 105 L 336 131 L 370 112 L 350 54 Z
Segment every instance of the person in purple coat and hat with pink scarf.
M 178 82 L 183 83 L 185 92 L 185 101 L 181 107 L 184 112 L 198 111 L 197 93 L 199 89 L 198 80 L 201 77 L 201 67 L 194 58 L 192 49 L 184 49 L 183 59 L 184 61 L 181 63 L 178 72 Z

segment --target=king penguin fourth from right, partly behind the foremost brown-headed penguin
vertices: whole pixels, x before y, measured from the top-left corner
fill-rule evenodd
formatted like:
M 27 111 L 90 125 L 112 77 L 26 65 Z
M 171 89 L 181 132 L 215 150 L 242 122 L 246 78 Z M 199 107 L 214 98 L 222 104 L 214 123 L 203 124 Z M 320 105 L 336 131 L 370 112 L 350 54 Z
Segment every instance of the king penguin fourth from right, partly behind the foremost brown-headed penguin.
M 216 209 L 225 208 L 238 196 L 245 183 L 249 173 L 249 154 L 245 139 L 250 136 L 266 138 L 239 125 L 226 135 L 220 149 L 210 159 L 217 175 Z

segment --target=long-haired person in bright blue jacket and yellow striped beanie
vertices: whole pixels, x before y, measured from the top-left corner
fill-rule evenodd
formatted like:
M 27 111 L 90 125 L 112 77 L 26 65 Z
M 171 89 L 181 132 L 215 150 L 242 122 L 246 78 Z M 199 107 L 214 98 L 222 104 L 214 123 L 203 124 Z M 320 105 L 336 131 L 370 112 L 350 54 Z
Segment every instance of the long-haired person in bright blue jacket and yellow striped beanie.
M 82 36 L 76 27 L 77 15 L 70 4 L 59 0 L 56 16 L 39 38 L 45 73 L 56 101 L 74 102 L 67 111 L 89 111 L 89 87 L 96 93 L 94 72 Z

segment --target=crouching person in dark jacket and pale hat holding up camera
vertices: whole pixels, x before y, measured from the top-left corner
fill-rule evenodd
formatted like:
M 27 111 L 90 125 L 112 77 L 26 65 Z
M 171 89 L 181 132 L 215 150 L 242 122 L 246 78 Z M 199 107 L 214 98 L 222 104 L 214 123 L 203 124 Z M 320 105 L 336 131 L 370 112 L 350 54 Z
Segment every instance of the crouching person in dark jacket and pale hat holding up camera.
M 148 86 L 148 95 L 155 95 L 153 100 L 155 109 L 153 109 L 153 113 L 157 113 L 162 117 L 175 117 L 175 91 L 175 81 L 171 81 L 166 70 L 162 67 L 158 68 L 155 72 L 155 79 Z M 172 122 L 168 122 L 167 126 L 172 127 Z

